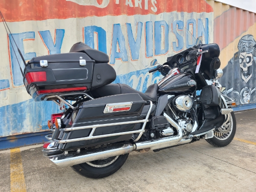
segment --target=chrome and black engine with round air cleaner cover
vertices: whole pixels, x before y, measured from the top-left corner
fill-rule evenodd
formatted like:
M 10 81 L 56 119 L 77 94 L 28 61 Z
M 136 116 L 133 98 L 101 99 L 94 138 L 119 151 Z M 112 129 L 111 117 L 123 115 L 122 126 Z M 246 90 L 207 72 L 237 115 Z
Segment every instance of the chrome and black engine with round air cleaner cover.
M 168 103 L 164 112 L 174 119 L 182 128 L 183 136 L 188 135 L 193 128 L 191 110 L 195 108 L 195 99 L 188 95 L 168 95 Z

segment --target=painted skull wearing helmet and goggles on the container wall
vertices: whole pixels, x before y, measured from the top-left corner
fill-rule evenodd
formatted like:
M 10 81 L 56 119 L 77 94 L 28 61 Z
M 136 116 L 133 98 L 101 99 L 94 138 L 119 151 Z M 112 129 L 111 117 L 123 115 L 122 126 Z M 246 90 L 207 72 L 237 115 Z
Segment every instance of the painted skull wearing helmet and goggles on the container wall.
M 255 56 L 256 41 L 253 35 L 244 35 L 238 43 L 239 65 L 241 70 L 241 78 L 247 83 L 253 72 L 253 57 Z

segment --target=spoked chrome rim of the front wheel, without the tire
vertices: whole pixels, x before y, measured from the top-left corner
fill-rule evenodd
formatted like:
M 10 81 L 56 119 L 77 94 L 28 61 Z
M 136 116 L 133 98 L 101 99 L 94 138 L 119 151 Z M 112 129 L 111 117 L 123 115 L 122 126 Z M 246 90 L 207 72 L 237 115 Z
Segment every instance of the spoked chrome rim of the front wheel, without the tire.
M 213 131 L 214 137 L 216 137 L 218 140 L 226 140 L 228 137 L 230 137 L 232 131 L 233 131 L 233 119 L 232 115 L 229 115 L 229 120 L 221 125 L 220 128 Z

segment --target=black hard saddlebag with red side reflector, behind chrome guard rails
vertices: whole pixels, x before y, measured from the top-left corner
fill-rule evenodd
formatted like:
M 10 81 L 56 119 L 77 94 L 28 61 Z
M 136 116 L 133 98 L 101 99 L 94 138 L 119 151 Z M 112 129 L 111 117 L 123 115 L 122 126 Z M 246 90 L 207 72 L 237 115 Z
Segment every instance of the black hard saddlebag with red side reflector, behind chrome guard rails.
M 76 130 L 76 128 L 89 125 L 99 125 L 93 132 L 92 136 L 101 136 L 104 134 L 114 134 L 141 129 L 143 123 L 109 125 L 104 127 L 100 127 L 100 125 L 145 119 L 140 116 L 145 104 L 148 105 L 148 103 L 146 103 L 138 93 L 106 96 L 80 103 L 73 111 L 69 123 L 67 123 L 66 126 L 66 128 L 73 128 L 73 131 L 64 131 L 61 140 L 89 137 L 92 131 L 94 131 L 93 128 L 87 127 Z M 76 148 L 130 140 L 131 138 L 132 133 L 99 137 L 95 139 L 92 138 L 90 140 L 63 143 L 60 145 L 60 148 L 61 150 L 72 150 Z

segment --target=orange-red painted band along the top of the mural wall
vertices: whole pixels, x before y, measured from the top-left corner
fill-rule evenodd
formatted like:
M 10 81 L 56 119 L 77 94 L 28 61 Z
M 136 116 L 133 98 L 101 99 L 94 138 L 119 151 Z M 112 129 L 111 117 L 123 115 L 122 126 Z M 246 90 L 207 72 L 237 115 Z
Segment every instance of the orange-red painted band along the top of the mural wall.
M 98 0 L 102 3 L 102 0 Z M 83 6 L 66 0 L 2 0 L 0 8 L 6 21 L 24 20 L 47 20 L 47 19 L 67 19 L 83 18 L 90 16 L 105 15 L 148 15 L 160 14 L 163 12 L 213 12 L 212 7 L 205 0 L 157 0 L 155 6 L 157 12 L 153 12 L 153 1 L 148 1 L 148 9 L 145 9 L 145 1 L 141 1 L 141 6 L 135 7 L 135 1 L 131 0 L 133 7 L 126 6 L 125 0 L 110 0 L 105 8 L 96 6 Z M 10 9 L 11 8 L 11 9 Z

